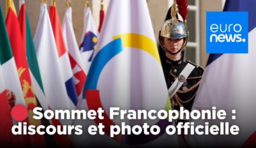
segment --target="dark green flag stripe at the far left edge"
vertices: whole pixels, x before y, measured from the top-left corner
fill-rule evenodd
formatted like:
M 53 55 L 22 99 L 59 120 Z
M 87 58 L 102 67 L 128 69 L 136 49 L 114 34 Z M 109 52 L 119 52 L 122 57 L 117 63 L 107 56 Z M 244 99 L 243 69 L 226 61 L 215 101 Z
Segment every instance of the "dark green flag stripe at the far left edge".
M 0 13 L 0 63 L 3 65 L 3 63 L 11 59 L 13 55 L 1 7 Z

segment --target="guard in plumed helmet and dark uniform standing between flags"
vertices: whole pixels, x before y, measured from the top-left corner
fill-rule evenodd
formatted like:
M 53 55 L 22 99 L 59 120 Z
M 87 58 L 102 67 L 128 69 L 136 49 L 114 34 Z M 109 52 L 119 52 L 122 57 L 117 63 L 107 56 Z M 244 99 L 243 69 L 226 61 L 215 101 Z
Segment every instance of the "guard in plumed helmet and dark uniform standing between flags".
M 159 33 L 158 49 L 172 108 L 179 110 L 183 106 L 185 110 L 191 111 L 203 75 L 203 68 L 185 61 L 185 47 L 189 39 L 189 32 L 186 18 L 183 15 L 187 15 L 187 3 L 180 5 L 180 7 L 174 0 Z M 183 20 L 178 18 L 178 13 L 183 17 Z M 177 47 L 179 42 L 181 42 L 181 48 Z M 168 44 L 170 44 L 169 47 Z

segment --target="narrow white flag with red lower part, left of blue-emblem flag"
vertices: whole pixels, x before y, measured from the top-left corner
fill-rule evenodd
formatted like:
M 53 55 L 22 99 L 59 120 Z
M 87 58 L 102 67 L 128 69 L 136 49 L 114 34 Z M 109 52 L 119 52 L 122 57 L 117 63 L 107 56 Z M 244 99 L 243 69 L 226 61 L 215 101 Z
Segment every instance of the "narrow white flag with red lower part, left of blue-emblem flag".
M 82 63 L 81 54 L 79 52 L 79 47 L 75 40 L 71 7 L 66 8 L 62 28 L 63 28 L 63 38 L 65 40 L 65 45 L 69 52 L 69 60 L 70 60 L 73 76 L 75 79 L 75 88 L 76 88 L 77 96 L 79 96 L 79 98 L 82 98 L 82 89 L 86 81 L 86 73 L 84 70 L 84 65 Z

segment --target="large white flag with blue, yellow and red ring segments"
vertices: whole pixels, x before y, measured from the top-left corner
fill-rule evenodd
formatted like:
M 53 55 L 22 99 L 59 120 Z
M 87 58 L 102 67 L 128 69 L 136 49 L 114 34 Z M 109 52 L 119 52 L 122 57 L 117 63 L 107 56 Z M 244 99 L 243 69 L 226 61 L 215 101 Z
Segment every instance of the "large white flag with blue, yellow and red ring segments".
M 120 126 L 121 122 L 130 126 L 142 122 L 157 124 L 162 131 L 155 136 L 120 134 L 108 141 L 124 145 L 177 145 L 172 136 L 168 136 L 169 141 L 163 138 L 165 127 L 170 124 L 166 120 L 108 118 L 113 106 L 123 110 L 168 110 L 170 100 L 146 1 L 110 1 L 106 20 L 83 91 L 88 109 L 104 109 L 104 119 L 94 121 L 104 124 L 108 136 L 109 127 Z

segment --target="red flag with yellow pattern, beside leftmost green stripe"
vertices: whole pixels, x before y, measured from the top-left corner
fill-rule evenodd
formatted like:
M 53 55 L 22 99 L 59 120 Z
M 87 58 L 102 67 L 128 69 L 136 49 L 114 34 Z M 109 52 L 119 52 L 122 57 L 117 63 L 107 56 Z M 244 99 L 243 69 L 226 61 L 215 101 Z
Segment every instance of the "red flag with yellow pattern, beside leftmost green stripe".
M 16 15 L 14 3 L 12 0 L 7 1 L 9 1 L 8 3 L 10 5 L 5 24 L 11 43 L 11 49 L 13 51 L 13 57 L 17 65 L 18 74 L 20 76 L 20 83 L 22 85 L 26 106 L 28 108 L 28 121 L 30 124 L 38 126 L 41 124 L 40 120 L 33 118 L 33 109 L 37 107 L 37 102 L 30 79 L 28 62 L 26 61 L 26 45 L 24 44 L 25 39 L 22 38 L 22 34 L 20 32 L 20 25 Z

